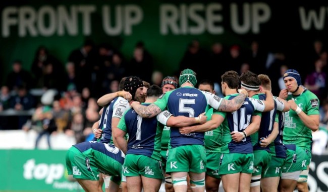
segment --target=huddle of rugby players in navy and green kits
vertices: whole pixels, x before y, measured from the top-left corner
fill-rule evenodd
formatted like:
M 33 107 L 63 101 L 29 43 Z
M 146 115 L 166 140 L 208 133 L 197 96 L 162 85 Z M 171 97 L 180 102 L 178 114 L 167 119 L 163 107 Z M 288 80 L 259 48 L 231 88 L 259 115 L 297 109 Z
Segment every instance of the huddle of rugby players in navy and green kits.
M 123 78 L 98 99 L 94 140 L 68 150 L 68 174 L 85 191 L 158 191 L 163 179 L 177 192 L 218 191 L 221 181 L 225 191 L 308 191 L 319 100 L 300 74 L 286 71 L 278 97 L 264 74 L 221 79 L 224 98 L 191 69 L 161 87 Z

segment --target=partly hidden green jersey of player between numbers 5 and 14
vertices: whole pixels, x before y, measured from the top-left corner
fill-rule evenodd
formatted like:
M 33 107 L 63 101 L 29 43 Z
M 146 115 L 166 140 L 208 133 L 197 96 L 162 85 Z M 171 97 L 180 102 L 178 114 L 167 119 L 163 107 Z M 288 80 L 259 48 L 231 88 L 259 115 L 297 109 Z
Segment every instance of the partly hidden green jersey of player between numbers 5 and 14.
M 211 119 L 212 114 L 213 108 L 209 108 L 205 114 L 207 117 L 207 121 Z M 219 126 L 216 129 L 205 132 L 204 141 L 206 153 L 221 153 L 221 129 L 222 128 Z

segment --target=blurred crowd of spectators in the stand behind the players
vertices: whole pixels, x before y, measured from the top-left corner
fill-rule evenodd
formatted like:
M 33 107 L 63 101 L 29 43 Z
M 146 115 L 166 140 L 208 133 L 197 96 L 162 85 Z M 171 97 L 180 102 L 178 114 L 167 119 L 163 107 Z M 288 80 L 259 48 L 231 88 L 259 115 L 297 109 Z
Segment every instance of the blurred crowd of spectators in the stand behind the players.
M 303 85 L 320 99 L 321 130 L 327 135 L 328 50 L 320 40 L 314 41 L 309 50 L 304 60 L 306 69 L 297 69 Z M 118 91 L 119 82 L 125 76 L 139 76 L 150 84 L 160 85 L 164 76 L 178 77 L 182 69 L 190 68 L 197 72 L 197 79 L 212 80 L 216 93 L 222 96 L 221 75 L 225 71 L 235 70 L 241 74 L 251 70 L 267 74 L 272 81 L 272 93 L 278 95 L 285 88 L 282 75 L 291 67 L 283 51 L 267 51 L 258 41 L 243 49 L 240 45 L 227 46 L 220 42 L 204 48 L 198 40 L 193 40 L 187 45 L 178 70 L 172 74 L 156 69 L 151 52 L 143 42 L 135 45 L 129 61 L 110 44 L 96 45 L 88 39 L 71 51 L 65 63 L 44 46 L 35 51 L 30 70 L 24 69 L 22 62 L 12 63 L 12 71 L 1 87 L 0 130 L 34 129 L 39 133 L 36 147 L 43 135 L 48 139 L 57 133 L 74 135 L 77 143 L 92 138 L 91 127 L 100 117 L 97 99 Z M 7 110 L 33 111 L 30 115 L 17 116 L 14 124 L 2 115 Z

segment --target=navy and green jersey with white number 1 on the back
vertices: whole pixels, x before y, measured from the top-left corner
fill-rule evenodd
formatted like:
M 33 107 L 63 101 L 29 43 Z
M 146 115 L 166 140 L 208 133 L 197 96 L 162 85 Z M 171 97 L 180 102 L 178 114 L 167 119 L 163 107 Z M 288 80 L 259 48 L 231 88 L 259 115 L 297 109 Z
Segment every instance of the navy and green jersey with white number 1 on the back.
M 160 161 L 160 138 L 163 126 L 157 124 L 156 117 L 142 118 L 133 109 L 128 110 L 118 125 L 119 129 L 129 134 L 127 154 L 145 155 Z

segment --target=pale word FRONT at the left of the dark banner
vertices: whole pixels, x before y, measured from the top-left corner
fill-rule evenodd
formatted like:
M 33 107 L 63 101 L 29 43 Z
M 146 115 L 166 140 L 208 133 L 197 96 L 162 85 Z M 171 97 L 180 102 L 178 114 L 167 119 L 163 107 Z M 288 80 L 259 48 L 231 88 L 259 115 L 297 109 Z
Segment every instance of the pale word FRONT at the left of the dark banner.
M 30 6 L 7 7 L 2 12 L 2 36 L 9 37 L 11 27 L 18 26 L 18 36 L 31 35 L 51 36 L 57 34 L 63 36 L 65 29 L 68 34 L 77 35 L 78 14 L 82 17 L 82 34 L 91 34 L 91 14 L 96 11 L 93 5 L 71 6 L 70 16 L 64 6 L 58 6 L 57 10 L 50 6 L 42 6 L 36 10 Z M 47 20 L 45 20 L 47 19 Z

